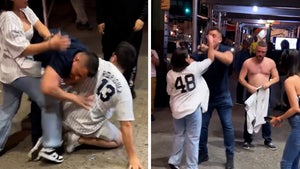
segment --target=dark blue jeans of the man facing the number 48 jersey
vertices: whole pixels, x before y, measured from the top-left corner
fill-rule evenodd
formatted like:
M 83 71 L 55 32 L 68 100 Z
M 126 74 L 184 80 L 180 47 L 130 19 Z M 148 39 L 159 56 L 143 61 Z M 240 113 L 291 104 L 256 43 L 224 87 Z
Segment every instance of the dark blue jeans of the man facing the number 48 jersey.
M 234 156 L 234 129 L 232 125 L 232 100 L 230 93 L 210 99 L 208 110 L 202 116 L 202 128 L 199 143 L 199 155 L 207 155 L 208 126 L 214 109 L 217 110 L 224 135 L 226 156 Z

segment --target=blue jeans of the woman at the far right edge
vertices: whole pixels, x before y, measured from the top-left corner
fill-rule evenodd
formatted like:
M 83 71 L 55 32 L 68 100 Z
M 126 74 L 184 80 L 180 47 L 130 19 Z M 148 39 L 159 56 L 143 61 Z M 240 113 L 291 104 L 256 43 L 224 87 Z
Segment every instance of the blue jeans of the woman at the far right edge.
M 286 141 L 280 162 L 281 169 L 299 169 L 300 160 L 300 114 L 290 117 L 291 133 Z

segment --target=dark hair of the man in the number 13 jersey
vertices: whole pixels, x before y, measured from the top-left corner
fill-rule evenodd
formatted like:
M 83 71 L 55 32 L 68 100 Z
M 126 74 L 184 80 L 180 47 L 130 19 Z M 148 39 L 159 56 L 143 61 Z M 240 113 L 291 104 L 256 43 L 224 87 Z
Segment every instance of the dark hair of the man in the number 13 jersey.
M 136 50 L 128 42 L 122 41 L 117 46 L 114 54 L 117 56 L 117 62 L 122 69 L 130 70 L 135 66 L 136 62 Z

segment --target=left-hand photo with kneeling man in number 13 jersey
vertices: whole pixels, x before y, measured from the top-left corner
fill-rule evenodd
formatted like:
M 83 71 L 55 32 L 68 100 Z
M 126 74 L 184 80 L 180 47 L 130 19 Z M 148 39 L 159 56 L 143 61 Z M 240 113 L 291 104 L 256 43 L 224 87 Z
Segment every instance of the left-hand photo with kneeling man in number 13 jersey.
M 148 0 L 0 2 L 3 168 L 148 168 Z

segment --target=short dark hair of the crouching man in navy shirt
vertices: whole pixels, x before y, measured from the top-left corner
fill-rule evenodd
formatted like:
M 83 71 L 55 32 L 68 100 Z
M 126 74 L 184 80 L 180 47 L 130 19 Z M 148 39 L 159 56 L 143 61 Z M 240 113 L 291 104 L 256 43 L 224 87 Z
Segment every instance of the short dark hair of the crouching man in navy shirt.
M 87 55 L 86 67 L 88 69 L 88 77 L 94 77 L 98 72 L 99 58 L 94 52 L 86 51 Z

